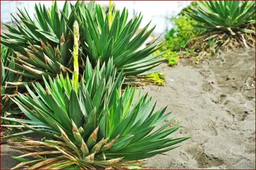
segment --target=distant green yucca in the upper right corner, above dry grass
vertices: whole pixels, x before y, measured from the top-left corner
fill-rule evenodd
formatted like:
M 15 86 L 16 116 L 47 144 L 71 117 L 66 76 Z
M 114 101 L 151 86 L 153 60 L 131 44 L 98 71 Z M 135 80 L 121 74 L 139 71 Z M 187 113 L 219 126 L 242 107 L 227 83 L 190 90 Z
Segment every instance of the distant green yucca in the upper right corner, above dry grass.
M 236 31 L 254 33 L 246 27 L 255 23 L 254 1 L 199 1 L 187 10 L 188 16 L 210 30 L 222 30 L 235 35 Z

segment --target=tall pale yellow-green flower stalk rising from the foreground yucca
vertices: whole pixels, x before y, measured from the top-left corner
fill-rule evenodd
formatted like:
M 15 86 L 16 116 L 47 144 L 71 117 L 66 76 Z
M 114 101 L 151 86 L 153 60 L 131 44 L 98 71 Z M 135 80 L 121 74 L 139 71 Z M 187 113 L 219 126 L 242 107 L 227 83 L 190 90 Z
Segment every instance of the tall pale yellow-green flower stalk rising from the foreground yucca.
M 73 25 L 73 31 L 74 31 L 74 51 L 73 51 L 73 57 L 74 57 L 74 90 L 78 91 L 78 75 L 79 75 L 79 65 L 78 65 L 78 48 L 79 48 L 79 25 L 77 21 L 74 21 Z

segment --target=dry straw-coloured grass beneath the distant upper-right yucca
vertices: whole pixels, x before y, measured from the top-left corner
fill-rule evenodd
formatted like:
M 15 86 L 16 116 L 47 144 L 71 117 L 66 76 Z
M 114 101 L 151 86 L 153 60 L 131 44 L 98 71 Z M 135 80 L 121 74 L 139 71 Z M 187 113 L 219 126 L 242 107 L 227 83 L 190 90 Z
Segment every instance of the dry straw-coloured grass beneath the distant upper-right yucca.
M 250 27 L 254 30 L 255 27 Z M 191 51 L 181 51 L 180 58 L 193 57 L 194 62 L 198 63 L 204 57 L 218 54 L 218 52 L 235 48 L 253 48 L 255 47 L 255 33 L 236 32 L 231 35 L 227 32 L 214 31 L 191 39 L 186 48 Z

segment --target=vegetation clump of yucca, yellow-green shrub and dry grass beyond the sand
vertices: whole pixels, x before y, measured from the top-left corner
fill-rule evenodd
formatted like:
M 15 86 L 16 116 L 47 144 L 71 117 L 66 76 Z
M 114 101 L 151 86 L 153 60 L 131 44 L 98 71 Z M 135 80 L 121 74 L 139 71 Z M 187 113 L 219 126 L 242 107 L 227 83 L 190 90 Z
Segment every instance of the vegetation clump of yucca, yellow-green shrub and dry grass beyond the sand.
M 175 65 L 181 57 L 193 57 L 198 63 L 219 48 L 249 48 L 255 44 L 255 2 L 192 2 L 170 21 L 174 28 L 159 49 L 170 50 L 163 55 L 169 57 L 169 65 Z

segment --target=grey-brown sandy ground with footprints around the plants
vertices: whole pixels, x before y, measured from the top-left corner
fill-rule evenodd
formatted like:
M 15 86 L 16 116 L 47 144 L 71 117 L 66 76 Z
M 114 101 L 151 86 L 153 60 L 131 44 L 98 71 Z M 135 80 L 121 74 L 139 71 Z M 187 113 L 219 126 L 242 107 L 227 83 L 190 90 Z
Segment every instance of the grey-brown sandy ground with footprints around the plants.
M 158 108 L 182 121 L 175 137 L 191 136 L 181 147 L 150 158 L 162 169 L 255 169 L 255 50 L 236 50 L 202 64 L 181 60 L 161 65 L 165 86 L 146 86 Z M 1 169 L 17 162 L 19 152 L 1 146 Z

